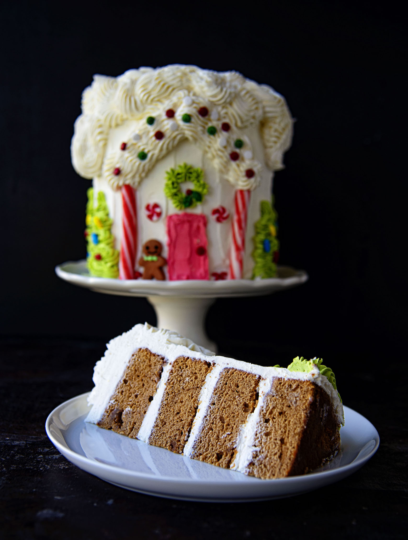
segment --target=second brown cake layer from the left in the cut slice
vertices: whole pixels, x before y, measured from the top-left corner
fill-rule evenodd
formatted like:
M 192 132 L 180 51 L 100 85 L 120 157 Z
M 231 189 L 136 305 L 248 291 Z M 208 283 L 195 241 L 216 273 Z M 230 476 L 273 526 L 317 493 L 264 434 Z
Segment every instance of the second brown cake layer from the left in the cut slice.
M 211 369 L 210 362 L 185 356 L 174 361 L 149 444 L 182 454 L 198 408 L 201 388 Z

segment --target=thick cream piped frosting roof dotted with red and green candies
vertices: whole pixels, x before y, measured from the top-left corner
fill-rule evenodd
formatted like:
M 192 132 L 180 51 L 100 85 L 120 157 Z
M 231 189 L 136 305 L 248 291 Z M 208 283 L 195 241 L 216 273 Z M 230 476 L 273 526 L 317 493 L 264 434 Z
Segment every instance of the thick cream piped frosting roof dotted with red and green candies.
M 95 75 L 81 107 L 71 144 L 73 166 L 84 178 L 105 177 L 113 188 L 137 188 L 159 159 L 187 139 L 202 147 L 236 189 L 253 190 L 261 164 L 242 130 L 259 125 L 272 171 L 282 168 L 291 143 L 293 120 L 284 98 L 235 71 L 169 65 L 116 78 Z M 109 131 L 128 120 L 134 121 L 128 135 L 107 151 Z

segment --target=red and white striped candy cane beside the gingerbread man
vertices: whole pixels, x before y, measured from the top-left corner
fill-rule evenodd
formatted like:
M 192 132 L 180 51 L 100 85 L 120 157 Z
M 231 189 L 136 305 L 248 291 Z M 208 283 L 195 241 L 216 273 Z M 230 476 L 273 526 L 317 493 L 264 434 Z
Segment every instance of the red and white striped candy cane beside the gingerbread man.
M 120 246 L 119 279 L 134 279 L 134 265 L 137 248 L 136 193 L 132 186 L 121 189 L 123 218 L 122 243 Z

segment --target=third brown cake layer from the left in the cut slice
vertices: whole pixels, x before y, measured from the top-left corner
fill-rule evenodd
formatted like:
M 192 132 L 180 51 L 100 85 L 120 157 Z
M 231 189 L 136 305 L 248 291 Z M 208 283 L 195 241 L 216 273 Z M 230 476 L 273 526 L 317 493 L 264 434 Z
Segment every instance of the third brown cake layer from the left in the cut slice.
M 242 424 L 258 401 L 260 376 L 235 368 L 222 370 L 191 457 L 228 469 Z

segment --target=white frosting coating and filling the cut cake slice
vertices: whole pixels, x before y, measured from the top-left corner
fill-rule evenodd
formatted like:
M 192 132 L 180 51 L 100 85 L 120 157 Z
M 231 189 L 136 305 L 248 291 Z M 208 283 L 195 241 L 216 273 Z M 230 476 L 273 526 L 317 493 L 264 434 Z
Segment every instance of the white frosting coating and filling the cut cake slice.
M 199 407 L 183 451 L 183 454 L 186 456 L 190 456 L 192 453 L 194 442 L 201 432 L 202 422 L 205 418 L 219 375 L 222 369 L 227 367 L 240 369 L 261 377 L 258 389 L 259 400 L 254 412 L 248 415 L 247 422 L 240 430 L 236 443 L 237 454 L 232 464 L 232 469 L 242 473 L 246 471 L 254 451 L 253 443 L 260 411 L 266 395 L 270 392 L 275 377 L 311 381 L 322 387 L 330 396 L 338 422 L 344 424 L 343 406 L 338 393 L 327 377 L 321 375 L 316 366 L 309 373 L 290 372 L 287 368 L 262 367 L 225 356 L 217 356 L 175 332 L 159 330 L 147 323 L 145 325 L 134 326 L 129 332 L 125 332 L 107 344 L 105 356 L 97 362 L 94 368 L 93 382 L 95 383 L 95 387 L 88 398 L 92 409 L 86 417 L 87 422 L 97 423 L 101 419 L 117 384 L 123 377 L 132 354 L 140 348 L 147 348 L 152 353 L 163 356 L 167 362 L 158 383 L 157 392 L 147 409 L 138 433 L 138 438 L 141 441 L 147 442 L 149 439 L 159 412 L 160 403 L 166 389 L 166 383 L 173 362 L 180 356 L 191 357 L 213 364 L 213 369 L 208 373 L 200 392 Z

